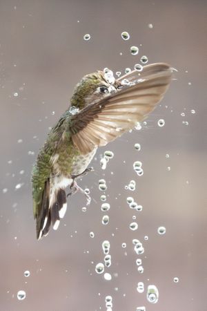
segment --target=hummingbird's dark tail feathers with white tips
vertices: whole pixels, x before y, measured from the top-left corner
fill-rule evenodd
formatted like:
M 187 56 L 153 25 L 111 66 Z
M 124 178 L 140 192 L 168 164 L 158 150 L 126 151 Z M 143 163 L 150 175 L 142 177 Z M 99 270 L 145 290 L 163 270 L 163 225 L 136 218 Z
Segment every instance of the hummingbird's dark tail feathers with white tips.
M 50 178 L 48 178 L 39 204 L 39 213 L 36 216 L 37 240 L 48 234 L 51 224 L 53 229 L 57 230 L 60 218 L 66 214 L 66 209 L 66 191 L 51 187 Z

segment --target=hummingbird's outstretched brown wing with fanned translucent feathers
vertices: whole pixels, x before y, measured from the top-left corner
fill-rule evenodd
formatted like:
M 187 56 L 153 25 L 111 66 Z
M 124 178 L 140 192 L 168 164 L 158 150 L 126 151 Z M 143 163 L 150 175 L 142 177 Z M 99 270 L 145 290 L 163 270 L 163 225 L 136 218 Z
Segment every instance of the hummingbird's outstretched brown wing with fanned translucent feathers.
M 135 85 L 124 86 L 99 102 L 92 102 L 72 116 L 72 142 L 82 154 L 104 146 L 132 129 L 164 96 L 172 77 L 168 64 L 150 64 L 119 78 Z M 138 82 L 137 82 L 138 80 Z

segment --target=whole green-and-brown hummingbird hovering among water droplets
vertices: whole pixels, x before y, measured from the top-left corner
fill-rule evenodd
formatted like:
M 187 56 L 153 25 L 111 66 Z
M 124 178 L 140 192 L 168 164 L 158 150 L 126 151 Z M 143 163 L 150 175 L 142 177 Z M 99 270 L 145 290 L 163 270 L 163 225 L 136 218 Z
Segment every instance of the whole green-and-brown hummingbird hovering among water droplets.
M 77 179 L 86 175 L 98 147 L 133 129 L 155 109 L 172 79 L 168 64 L 150 64 L 115 79 L 105 68 L 85 75 L 69 108 L 48 133 L 32 169 L 37 239 L 57 229 L 66 214 L 66 189 L 85 193 Z M 86 193 L 85 193 L 86 194 Z M 90 203 L 88 194 L 87 202 Z

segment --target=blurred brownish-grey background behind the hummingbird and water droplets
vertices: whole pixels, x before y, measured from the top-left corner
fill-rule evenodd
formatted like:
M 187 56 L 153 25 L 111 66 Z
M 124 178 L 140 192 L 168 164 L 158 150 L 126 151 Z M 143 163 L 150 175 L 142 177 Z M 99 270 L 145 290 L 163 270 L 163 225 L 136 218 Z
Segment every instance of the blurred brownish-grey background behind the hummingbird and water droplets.
M 124 30 L 128 41 L 121 39 Z M 86 33 L 89 41 L 83 40 Z M 139 46 L 137 56 L 130 55 L 133 45 Z M 1 311 L 106 310 L 107 294 L 113 311 L 141 305 L 146 311 L 206 310 L 206 50 L 206 1 L 0 1 Z M 142 55 L 150 63 L 177 68 L 177 81 L 141 131 L 99 149 L 92 162 L 95 173 L 80 182 L 91 191 L 88 210 L 81 211 L 86 204 L 81 194 L 68 199 L 59 230 L 37 242 L 30 171 L 48 127 L 68 107 L 83 75 L 106 66 L 124 73 Z M 160 118 L 164 127 L 157 126 Z M 102 171 L 99 158 L 107 149 L 115 157 Z M 132 169 L 135 160 L 143 162 L 142 177 Z M 99 178 L 108 184 L 106 226 L 101 224 Z M 135 192 L 124 189 L 132 179 Z M 15 189 L 19 183 L 22 187 Z M 127 196 L 143 211 L 130 209 Z M 132 216 L 137 216 L 137 232 L 128 227 Z M 164 236 L 157 234 L 160 225 L 166 227 Z M 144 243 L 143 255 L 135 254 L 132 238 Z M 95 272 L 106 239 L 111 281 Z M 143 274 L 137 271 L 137 257 Z M 28 278 L 25 270 L 30 270 Z M 179 283 L 173 282 L 175 276 Z M 139 281 L 145 288 L 157 285 L 157 304 L 148 303 L 146 290 L 137 292 Z M 17 299 L 19 290 L 26 291 L 23 301 Z

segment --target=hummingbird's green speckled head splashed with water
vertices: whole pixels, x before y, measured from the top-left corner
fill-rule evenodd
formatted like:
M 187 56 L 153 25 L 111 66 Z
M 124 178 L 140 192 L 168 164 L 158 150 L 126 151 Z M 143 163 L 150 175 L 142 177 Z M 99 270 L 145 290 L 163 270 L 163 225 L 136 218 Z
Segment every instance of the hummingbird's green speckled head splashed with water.
M 97 73 L 85 75 L 75 87 L 70 100 L 71 106 L 83 109 L 88 104 L 101 100 L 121 88 L 121 83 L 115 80 L 113 73 L 108 68 Z

